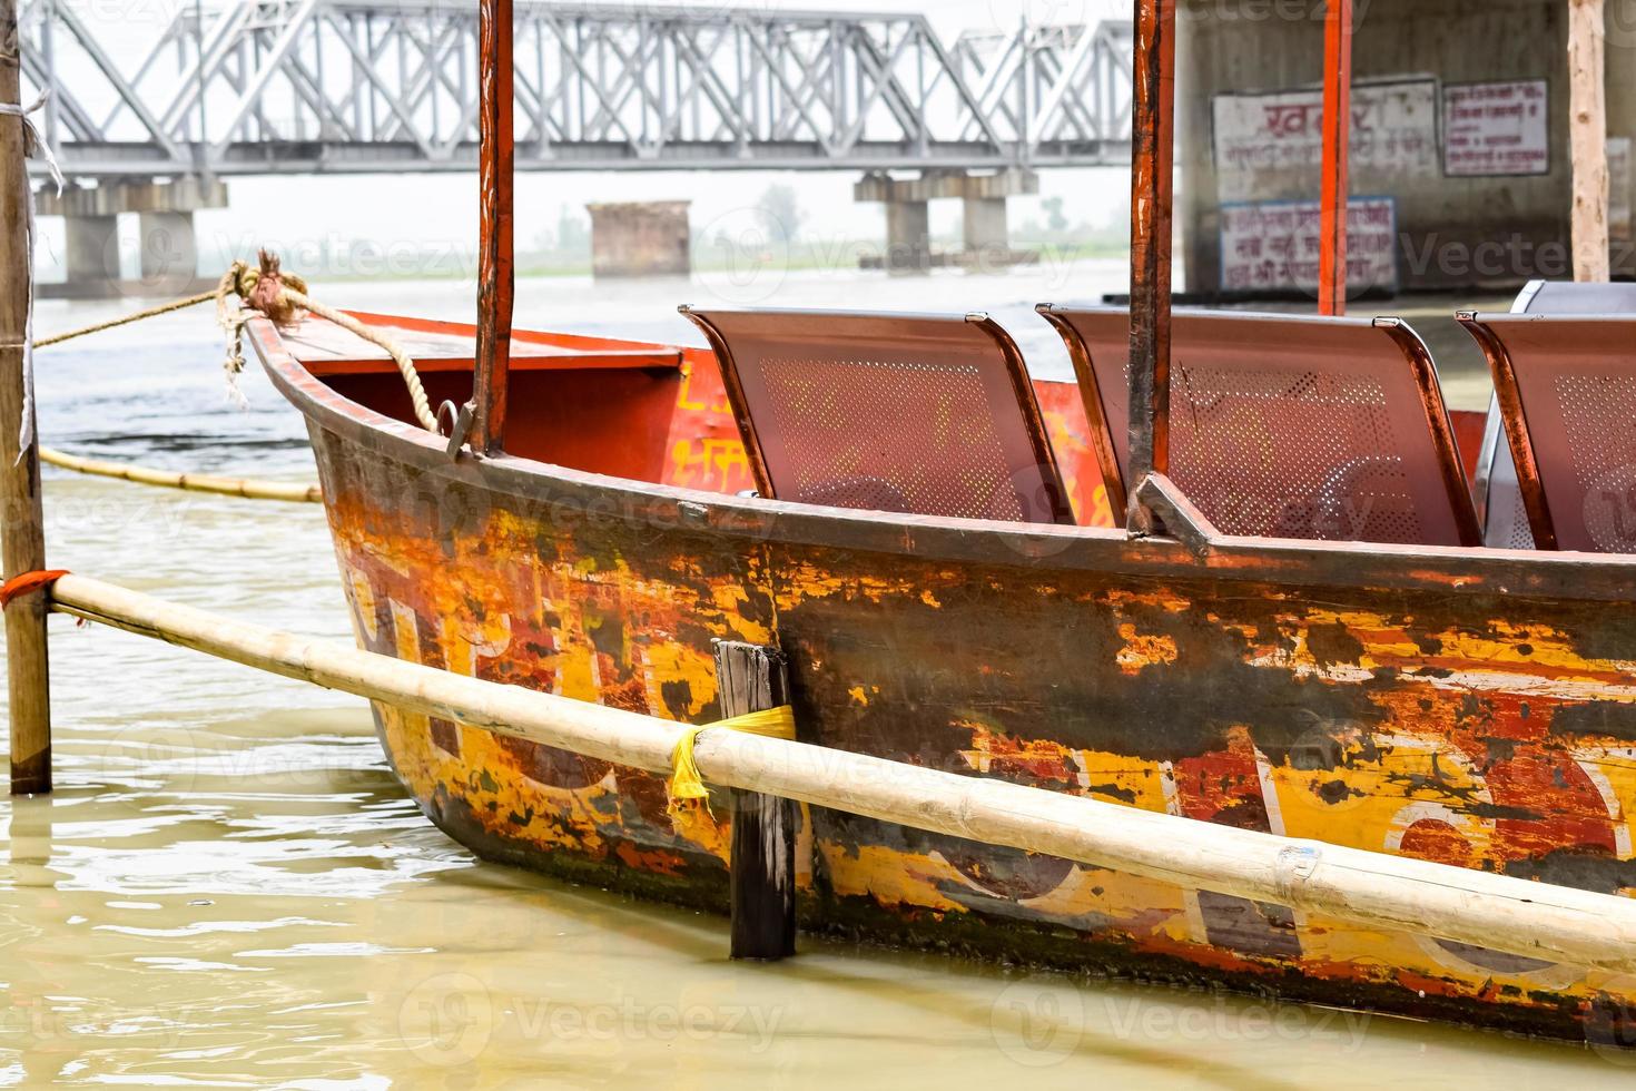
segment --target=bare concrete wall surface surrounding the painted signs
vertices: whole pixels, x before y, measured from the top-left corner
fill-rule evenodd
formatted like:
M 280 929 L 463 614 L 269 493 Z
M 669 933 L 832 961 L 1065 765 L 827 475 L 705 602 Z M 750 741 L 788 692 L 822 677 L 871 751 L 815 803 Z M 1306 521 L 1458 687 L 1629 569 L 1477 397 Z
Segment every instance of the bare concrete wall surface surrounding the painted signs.
M 1636 136 L 1636 0 L 1608 0 L 1613 136 Z M 1405 290 L 1502 286 L 1564 276 L 1569 244 L 1567 0 L 1355 0 L 1355 80 L 1436 77 L 1440 85 L 1548 83 L 1549 173 L 1446 177 L 1441 93 L 1438 170 L 1427 177 L 1355 164 L 1353 195 L 1397 201 L 1397 270 Z M 1312 88 L 1324 77 L 1322 0 L 1183 0 L 1178 33 L 1178 227 L 1189 291 L 1220 285 L 1220 182 L 1212 97 Z M 1625 33 L 1623 28 L 1629 28 Z M 1440 87 L 1441 90 L 1441 87 Z M 1229 178 L 1240 188 L 1243 173 Z M 1230 196 L 1230 195 L 1229 195 Z M 1255 200 L 1319 196 L 1315 170 L 1268 170 Z M 1616 270 L 1636 272 L 1615 245 Z

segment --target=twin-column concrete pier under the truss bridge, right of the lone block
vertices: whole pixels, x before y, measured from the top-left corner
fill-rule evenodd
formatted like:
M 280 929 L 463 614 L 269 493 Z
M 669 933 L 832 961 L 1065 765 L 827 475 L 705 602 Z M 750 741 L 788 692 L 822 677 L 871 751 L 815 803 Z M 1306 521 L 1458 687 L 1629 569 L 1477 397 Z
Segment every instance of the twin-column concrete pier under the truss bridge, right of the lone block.
M 887 206 L 887 250 L 882 260 L 865 262 L 897 273 L 924 272 L 954 260 L 962 265 L 995 268 L 1016 265 L 1032 255 L 1011 249 L 1006 200 L 1039 193 L 1039 175 L 1008 168 L 995 173 L 928 172 L 918 178 L 865 175 L 852 188 L 857 201 Z M 931 249 L 931 208 L 936 200 L 965 204 L 964 252 L 937 255 Z

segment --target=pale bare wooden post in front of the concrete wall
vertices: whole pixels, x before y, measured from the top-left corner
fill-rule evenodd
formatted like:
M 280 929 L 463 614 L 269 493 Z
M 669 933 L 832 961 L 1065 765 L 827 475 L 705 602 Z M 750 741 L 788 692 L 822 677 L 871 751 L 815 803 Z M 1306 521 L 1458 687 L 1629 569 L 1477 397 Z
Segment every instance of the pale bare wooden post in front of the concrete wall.
M 1569 0 L 1569 149 L 1574 162 L 1574 280 L 1608 280 L 1608 108 L 1603 0 Z

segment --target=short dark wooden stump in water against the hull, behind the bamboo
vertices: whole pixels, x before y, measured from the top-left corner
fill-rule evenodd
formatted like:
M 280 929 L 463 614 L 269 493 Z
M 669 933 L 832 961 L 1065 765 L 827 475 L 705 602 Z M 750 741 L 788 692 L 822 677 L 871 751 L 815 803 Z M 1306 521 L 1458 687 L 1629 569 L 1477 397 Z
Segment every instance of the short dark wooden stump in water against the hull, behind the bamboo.
M 766 712 L 789 702 L 784 658 L 759 644 L 717 643 L 717 689 L 723 716 Z M 795 803 L 733 788 L 733 957 L 795 954 Z

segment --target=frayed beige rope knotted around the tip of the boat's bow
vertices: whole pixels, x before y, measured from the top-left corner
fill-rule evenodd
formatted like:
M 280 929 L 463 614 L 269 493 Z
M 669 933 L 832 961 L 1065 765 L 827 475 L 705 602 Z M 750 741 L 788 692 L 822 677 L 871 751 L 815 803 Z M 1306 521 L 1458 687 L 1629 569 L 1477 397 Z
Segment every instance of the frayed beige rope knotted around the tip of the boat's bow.
M 260 268 L 234 262 L 222 273 L 221 283 L 216 286 L 216 322 L 227 334 L 227 358 L 222 361 L 222 368 L 227 371 L 227 388 L 239 401 L 244 397 L 239 394 L 237 378 L 244 371 L 245 322 L 260 316 L 276 326 L 293 326 L 301 319 L 301 312 L 306 311 L 384 350 L 393 358 L 393 363 L 398 365 L 398 373 L 409 389 L 409 402 L 414 406 L 416 420 L 427 432 L 440 432 L 437 414 L 432 412 L 425 386 L 420 383 L 420 373 L 402 345 L 378 329 L 365 326 L 345 311 L 337 311 L 312 299 L 308 294 L 304 280 L 280 268 L 276 254 L 262 250 L 258 260 Z M 237 311 L 227 308 L 227 299 L 232 296 L 239 298 Z

